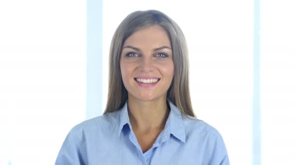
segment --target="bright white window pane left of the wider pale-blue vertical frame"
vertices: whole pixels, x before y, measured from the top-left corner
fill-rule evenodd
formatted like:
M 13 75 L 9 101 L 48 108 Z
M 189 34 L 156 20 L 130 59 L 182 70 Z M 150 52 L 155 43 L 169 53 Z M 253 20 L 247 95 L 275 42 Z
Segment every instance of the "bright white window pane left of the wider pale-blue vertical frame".
M 0 2 L 1 165 L 53 165 L 85 119 L 86 9 L 86 1 Z

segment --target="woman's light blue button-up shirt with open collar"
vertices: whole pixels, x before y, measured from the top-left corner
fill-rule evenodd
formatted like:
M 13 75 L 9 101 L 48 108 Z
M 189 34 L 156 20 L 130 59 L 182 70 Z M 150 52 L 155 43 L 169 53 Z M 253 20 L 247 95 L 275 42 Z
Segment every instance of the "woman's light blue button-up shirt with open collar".
M 55 165 L 229 165 L 220 133 L 205 122 L 170 113 L 153 146 L 142 152 L 132 131 L 127 102 L 73 127 Z

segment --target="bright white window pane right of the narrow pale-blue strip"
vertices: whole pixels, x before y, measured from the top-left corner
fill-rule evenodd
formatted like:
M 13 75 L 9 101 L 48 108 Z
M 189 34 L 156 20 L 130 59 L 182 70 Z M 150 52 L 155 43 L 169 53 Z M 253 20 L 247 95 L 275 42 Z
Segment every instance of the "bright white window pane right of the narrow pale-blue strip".
M 263 165 L 294 163 L 293 15 L 293 3 L 290 0 L 261 0 L 260 91 Z

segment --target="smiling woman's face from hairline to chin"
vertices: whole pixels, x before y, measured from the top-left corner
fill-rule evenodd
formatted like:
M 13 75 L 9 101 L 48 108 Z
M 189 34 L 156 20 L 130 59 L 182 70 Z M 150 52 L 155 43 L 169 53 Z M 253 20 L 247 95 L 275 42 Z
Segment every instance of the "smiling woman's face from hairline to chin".
M 171 43 L 160 26 L 134 32 L 123 44 L 120 70 L 129 97 L 166 98 L 174 76 Z

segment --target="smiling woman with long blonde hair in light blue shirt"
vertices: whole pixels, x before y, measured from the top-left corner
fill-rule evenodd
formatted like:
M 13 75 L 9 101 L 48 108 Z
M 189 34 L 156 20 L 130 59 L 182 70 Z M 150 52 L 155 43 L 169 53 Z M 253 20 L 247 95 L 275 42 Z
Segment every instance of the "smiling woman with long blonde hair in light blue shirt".
M 109 62 L 103 116 L 73 127 L 56 165 L 229 165 L 221 135 L 193 113 L 186 41 L 171 18 L 129 14 Z

